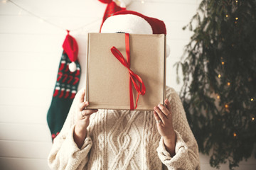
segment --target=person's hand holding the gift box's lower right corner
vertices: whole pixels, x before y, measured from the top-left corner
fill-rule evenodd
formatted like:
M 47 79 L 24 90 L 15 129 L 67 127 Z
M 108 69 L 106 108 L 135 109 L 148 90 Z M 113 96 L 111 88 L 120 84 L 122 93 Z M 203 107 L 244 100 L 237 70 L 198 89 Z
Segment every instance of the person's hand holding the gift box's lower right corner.
M 164 139 L 166 150 L 173 157 L 175 155 L 176 133 L 174 132 L 172 123 L 171 103 L 168 99 L 164 103 L 166 107 L 161 104 L 154 107 L 154 118 L 156 120 L 157 130 Z

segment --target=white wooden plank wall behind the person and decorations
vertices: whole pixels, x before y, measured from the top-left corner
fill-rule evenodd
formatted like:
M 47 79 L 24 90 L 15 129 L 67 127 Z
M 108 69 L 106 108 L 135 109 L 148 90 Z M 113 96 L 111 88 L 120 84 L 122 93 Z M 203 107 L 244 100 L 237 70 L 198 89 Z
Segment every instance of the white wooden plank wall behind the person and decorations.
M 97 0 L 0 0 L 0 169 L 46 170 L 51 147 L 46 113 L 50 106 L 65 29 L 78 40 L 85 65 L 87 32 L 98 32 L 105 4 Z M 181 28 L 196 13 L 200 0 L 139 0 L 128 7 L 166 23 L 171 55 L 167 84 L 176 91 L 174 63 L 192 33 Z M 24 9 L 30 11 L 24 11 Z M 48 23 L 50 22 L 50 23 Z M 58 28 L 58 27 L 60 28 Z M 76 29 L 76 30 L 74 30 Z M 79 89 L 84 86 L 82 74 Z M 201 155 L 201 168 L 211 169 Z M 238 169 L 255 169 L 255 159 Z M 228 169 L 228 165 L 221 166 Z

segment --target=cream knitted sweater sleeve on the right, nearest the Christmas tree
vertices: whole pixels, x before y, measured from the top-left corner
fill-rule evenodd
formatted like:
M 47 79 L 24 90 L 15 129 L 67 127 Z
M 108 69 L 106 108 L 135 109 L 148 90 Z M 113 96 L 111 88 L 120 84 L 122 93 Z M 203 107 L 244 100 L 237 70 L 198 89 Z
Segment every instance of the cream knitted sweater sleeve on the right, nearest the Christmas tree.
M 188 125 L 181 99 L 174 89 L 170 88 L 167 88 L 166 97 L 171 103 L 176 147 L 175 155 L 171 157 L 166 151 L 164 140 L 161 137 L 159 147 L 156 149 L 159 159 L 164 164 L 164 169 L 200 169 L 198 145 Z

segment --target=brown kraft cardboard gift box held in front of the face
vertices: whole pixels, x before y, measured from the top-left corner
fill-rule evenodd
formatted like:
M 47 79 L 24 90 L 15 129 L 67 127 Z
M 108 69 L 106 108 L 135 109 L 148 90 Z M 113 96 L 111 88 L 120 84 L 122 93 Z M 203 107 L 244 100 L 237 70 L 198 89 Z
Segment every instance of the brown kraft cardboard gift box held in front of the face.
M 126 39 L 129 42 L 126 42 Z M 152 111 L 159 103 L 164 104 L 166 86 L 164 34 L 88 33 L 87 45 L 85 76 L 85 101 L 89 102 L 87 109 Z M 113 46 L 122 53 L 125 62 L 129 50 L 130 67 L 122 64 L 124 62 L 122 57 L 119 57 L 122 61 L 120 62 L 113 55 L 111 50 Z M 117 50 L 115 52 L 119 53 Z M 142 79 L 146 89 L 143 96 L 139 95 L 136 109 L 134 108 L 138 92 L 130 79 L 129 69 Z

